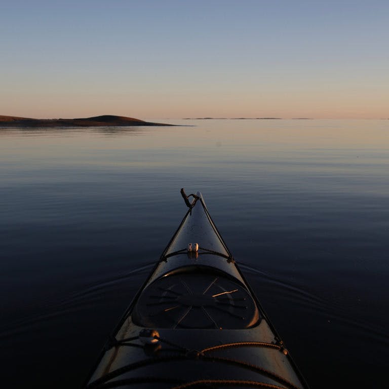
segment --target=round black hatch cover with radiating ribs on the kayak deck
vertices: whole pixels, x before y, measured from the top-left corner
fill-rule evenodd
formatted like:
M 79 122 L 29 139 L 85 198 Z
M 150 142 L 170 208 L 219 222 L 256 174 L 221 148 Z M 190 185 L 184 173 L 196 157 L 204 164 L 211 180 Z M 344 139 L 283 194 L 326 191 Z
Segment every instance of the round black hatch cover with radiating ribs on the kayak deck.
M 258 309 L 247 289 L 220 274 L 200 271 L 153 282 L 133 311 L 135 324 L 153 328 L 239 329 L 258 320 Z

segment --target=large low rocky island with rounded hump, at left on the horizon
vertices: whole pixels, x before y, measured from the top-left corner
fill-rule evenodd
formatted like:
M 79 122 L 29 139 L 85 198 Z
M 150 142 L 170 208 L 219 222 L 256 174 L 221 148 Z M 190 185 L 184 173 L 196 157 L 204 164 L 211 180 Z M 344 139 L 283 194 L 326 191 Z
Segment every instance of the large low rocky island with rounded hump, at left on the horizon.
M 31 119 L 0 115 L 0 127 L 124 127 L 124 126 L 174 126 L 127 118 L 127 116 L 101 115 L 79 119 Z

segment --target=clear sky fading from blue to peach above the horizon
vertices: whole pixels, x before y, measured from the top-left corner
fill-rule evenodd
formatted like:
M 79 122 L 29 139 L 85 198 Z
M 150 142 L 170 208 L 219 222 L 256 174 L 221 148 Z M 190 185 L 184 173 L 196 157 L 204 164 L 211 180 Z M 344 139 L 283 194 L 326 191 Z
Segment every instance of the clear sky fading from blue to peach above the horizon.
M 0 114 L 389 118 L 389 2 L 2 0 Z

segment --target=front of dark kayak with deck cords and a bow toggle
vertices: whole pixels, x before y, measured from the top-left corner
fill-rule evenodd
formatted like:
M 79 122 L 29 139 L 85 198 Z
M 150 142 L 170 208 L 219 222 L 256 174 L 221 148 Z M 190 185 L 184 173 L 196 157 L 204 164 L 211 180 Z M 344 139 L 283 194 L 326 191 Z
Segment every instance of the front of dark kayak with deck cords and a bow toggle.
M 307 388 L 201 193 L 181 195 L 188 211 L 86 388 Z

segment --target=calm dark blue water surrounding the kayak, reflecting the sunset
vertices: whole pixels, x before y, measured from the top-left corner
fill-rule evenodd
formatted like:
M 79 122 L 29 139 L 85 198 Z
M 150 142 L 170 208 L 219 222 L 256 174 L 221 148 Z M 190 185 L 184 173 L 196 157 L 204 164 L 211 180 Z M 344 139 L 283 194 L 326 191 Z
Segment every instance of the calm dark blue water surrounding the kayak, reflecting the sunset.
M 165 122 L 0 129 L 4 379 L 82 385 L 185 187 L 312 388 L 387 387 L 389 121 Z

